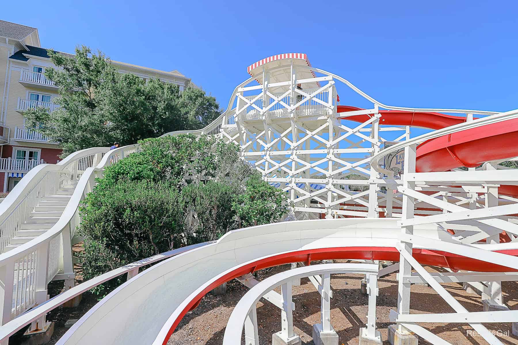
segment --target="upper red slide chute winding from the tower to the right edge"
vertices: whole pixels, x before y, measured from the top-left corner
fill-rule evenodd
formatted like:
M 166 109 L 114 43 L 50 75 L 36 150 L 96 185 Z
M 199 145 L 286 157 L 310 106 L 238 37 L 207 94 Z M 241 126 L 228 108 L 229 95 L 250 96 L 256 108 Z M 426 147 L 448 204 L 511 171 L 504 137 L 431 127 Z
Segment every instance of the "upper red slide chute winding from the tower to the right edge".
M 363 110 L 338 106 L 338 112 Z M 425 112 L 380 110 L 380 124 L 441 129 L 466 122 L 465 117 Z M 341 117 L 365 122 L 371 115 Z M 518 156 L 518 119 L 467 129 L 420 144 L 416 152 L 416 171 L 448 171 L 458 167 L 478 167 L 481 163 Z M 518 186 L 500 186 L 498 192 L 518 197 Z

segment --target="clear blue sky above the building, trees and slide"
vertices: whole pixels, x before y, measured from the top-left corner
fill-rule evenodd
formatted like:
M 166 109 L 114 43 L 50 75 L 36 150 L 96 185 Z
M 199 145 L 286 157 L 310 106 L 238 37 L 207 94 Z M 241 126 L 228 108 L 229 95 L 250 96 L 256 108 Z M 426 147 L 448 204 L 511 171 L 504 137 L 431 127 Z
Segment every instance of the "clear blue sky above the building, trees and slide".
M 307 53 L 386 104 L 518 108 L 513 1 L 51 3 L 7 2 L 1 18 L 37 27 L 45 48 L 84 44 L 117 61 L 178 69 L 223 108 L 248 65 L 288 52 Z

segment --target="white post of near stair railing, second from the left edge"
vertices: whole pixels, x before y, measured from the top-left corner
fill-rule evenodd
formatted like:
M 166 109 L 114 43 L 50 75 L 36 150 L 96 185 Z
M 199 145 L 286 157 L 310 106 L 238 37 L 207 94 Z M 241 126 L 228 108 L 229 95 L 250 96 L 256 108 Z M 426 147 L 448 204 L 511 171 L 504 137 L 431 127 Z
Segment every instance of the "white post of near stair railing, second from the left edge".
M 36 256 L 36 273 L 35 273 L 35 292 L 34 292 L 34 302 L 36 304 L 41 304 L 47 301 L 47 276 L 49 271 L 49 242 L 42 243 L 39 247 L 37 247 L 37 256 Z M 47 315 L 42 315 L 38 319 L 34 320 L 31 323 L 30 331 L 35 331 L 36 329 L 42 329 L 45 327 Z

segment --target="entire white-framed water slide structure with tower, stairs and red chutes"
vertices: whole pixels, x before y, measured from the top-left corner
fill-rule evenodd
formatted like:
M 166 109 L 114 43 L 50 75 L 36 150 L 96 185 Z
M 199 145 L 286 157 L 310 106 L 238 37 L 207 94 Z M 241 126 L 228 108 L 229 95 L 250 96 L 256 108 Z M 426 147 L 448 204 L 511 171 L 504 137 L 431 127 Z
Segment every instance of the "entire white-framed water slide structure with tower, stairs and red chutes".
M 360 336 L 379 343 L 377 279 L 399 270 L 400 298 L 390 316 L 394 332 L 412 332 L 434 344 L 447 344 L 415 322 L 464 322 L 488 343 L 501 344 L 482 323 L 518 322 L 517 311 L 503 310 L 501 293 L 501 281 L 518 280 L 518 173 L 500 165 L 517 155 L 518 111 L 389 106 L 346 79 L 312 67 L 305 54 L 271 56 L 249 66 L 248 72 L 252 77 L 236 87 L 228 110 L 191 133 L 240 145 L 242 158 L 267 182 L 287 192 L 299 220 L 232 231 L 217 242 L 172 250 L 46 301 L 50 280 L 74 275 L 69 252 L 70 243 L 79 240 L 71 229 L 79 221 L 80 200 L 106 166 L 133 153 L 138 145 L 107 155 L 106 148 L 91 149 L 61 165 L 38 167 L 1 205 L 0 222 L 14 224 L 10 215 L 29 214 L 62 186 L 77 186 L 50 229 L 0 254 L 4 285 L 0 342 L 6 343 L 24 325 L 41 328 L 47 324 L 46 312 L 123 273 L 128 280 L 89 310 L 58 344 L 165 344 L 184 314 L 206 293 L 235 278 L 251 289 L 229 319 L 224 344 L 239 343 L 244 329 L 247 345 L 258 345 L 254 306 L 261 297 L 279 307 L 282 316 L 282 330 L 272 337 L 296 342 L 291 284 L 293 278 L 308 275 L 322 296 L 322 319 L 313 335 L 333 336 L 330 275 L 359 272 L 366 275 L 369 294 L 368 322 Z M 340 106 L 337 83 L 372 102 L 372 109 Z M 412 138 L 413 126 L 433 131 Z M 184 132 L 166 135 L 179 133 Z M 87 154 L 94 158 L 85 162 L 82 157 Z M 470 168 L 458 169 L 463 165 Z M 362 179 L 349 179 L 349 174 Z M 40 181 L 51 188 L 38 187 Z M 26 201 L 24 194 L 36 188 L 38 193 Z M 25 224 L 17 217 L 15 228 Z M 18 235 L 3 229 L 0 224 L 9 245 Z M 324 259 L 396 263 L 379 272 L 369 263 L 310 265 Z M 137 274 L 139 267 L 160 260 Z M 263 282 L 249 275 L 286 263 L 303 267 Z M 429 274 L 425 264 L 448 272 Z M 415 282 L 427 282 L 455 312 L 409 315 L 410 284 Z M 488 311 L 467 312 L 442 282 L 467 283 L 480 290 Z M 281 294 L 271 291 L 279 285 Z

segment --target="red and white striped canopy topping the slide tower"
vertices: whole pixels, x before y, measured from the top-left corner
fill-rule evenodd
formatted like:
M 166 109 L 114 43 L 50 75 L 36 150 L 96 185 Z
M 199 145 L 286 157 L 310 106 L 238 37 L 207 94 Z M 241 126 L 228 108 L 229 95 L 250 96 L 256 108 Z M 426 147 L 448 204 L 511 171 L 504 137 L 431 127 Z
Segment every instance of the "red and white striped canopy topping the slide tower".
M 293 62 L 294 66 L 309 66 L 311 67 L 311 64 L 308 60 L 308 55 L 304 53 L 285 53 L 285 54 L 277 54 L 272 55 L 269 57 L 265 57 L 264 59 L 261 59 L 257 61 L 256 63 L 253 63 L 252 65 L 248 66 L 248 73 L 250 76 L 252 76 L 258 83 L 263 83 L 263 68 L 266 70 L 273 69 L 276 67 L 285 67 L 285 68 L 279 68 L 275 71 L 270 72 L 270 83 L 277 83 L 277 82 L 283 82 L 283 81 L 289 81 L 290 80 L 290 67 Z M 297 79 L 308 79 L 308 78 L 315 78 L 315 72 L 311 69 L 307 68 L 299 68 L 297 69 Z M 311 88 L 319 88 L 320 83 L 318 82 L 311 82 L 311 83 L 303 83 L 302 88 L 303 89 L 311 89 Z M 277 91 L 284 91 L 288 87 L 279 87 L 278 90 L 274 90 L 274 92 Z

